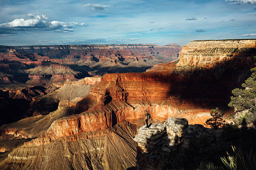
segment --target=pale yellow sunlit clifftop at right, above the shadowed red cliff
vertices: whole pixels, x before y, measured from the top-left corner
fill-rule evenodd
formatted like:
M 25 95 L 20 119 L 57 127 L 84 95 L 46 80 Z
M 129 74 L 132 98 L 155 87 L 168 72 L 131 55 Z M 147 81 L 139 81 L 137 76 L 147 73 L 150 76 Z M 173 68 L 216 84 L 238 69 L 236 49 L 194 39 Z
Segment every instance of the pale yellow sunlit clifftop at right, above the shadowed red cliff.
M 256 40 L 201 40 L 182 47 L 177 66 L 239 67 L 256 54 Z

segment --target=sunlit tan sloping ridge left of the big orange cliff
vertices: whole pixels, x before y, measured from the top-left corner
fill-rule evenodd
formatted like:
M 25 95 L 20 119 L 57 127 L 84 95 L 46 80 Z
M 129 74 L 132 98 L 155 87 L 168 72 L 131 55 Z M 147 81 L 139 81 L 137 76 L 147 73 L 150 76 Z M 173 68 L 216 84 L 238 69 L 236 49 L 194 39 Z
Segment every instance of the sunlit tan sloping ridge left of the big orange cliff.
M 0 140 L 38 137 L 50 127 L 54 120 L 81 110 L 88 110 L 88 107 L 86 108 L 84 105 L 79 107 L 77 103 L 84 103 L 83 98 L 90 92 L 90 88 L 98 82 L 100 82 L 100 76 L 85 77 L 77 81 L 66 80 L 62 87 L 52 93 L 41 97 L 30 96 L 32 102 L 30 109 L 26 111 L 32 113 L 30 116 L 34 117 L 3 125 L 0 128 Z M 18 94 L 14 97 L 18 97 Z M 51 104 L 52 100 L 53 103 L 59 101 L 57 108 Z M 46 115 L 48 113 L 49 115 Z

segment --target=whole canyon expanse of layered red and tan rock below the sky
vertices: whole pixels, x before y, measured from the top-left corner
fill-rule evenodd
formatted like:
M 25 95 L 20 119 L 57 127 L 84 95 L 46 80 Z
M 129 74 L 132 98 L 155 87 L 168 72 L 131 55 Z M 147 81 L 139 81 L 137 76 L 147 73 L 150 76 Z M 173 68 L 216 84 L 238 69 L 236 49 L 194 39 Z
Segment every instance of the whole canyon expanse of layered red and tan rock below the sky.
M 178 45 L 2 46 L 2 114 L 10 108 L 15 115 L 0 128 L 0 169 L 160 169 L 143 162 L 157 164 L 163 152 L 198 134 L 218 140 L 203 123 L 215 107 L 226 119 L 234 113 L 227 107 L 231 90 L 251 75 L 256 40 L 198 40 L 184 45 L 179 58 L 178 51 Z M 148 129 L 144 110 L 152 118 Z

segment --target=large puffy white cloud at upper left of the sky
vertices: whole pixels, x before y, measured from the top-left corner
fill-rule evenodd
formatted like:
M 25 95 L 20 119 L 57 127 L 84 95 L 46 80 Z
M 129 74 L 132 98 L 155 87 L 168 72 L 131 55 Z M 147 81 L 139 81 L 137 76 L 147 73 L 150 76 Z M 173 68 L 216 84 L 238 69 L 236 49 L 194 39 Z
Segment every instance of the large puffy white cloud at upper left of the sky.
M 61 21 L 46 21 L 48 17 L 43 14 L 33 15 L 28 14 L 33 19 L 25 20 L 24 18 L 15 19 L 8 23 L 0 24 L 0 34 L 14 33 L 15 31 L 28 31 L 28 30 L 56 30 L 59 32 L 71 32 L 75 26 L 86 26 L 85 23 L 77 22 L 61 22 Z

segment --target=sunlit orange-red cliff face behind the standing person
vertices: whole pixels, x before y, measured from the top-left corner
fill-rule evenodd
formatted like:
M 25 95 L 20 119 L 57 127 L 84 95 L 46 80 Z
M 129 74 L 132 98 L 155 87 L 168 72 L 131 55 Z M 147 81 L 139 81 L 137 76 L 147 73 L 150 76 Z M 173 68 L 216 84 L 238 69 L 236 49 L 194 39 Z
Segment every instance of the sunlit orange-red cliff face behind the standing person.
M 141 125 L 144 110 L 150 112 L 154 121 L 176 116 L 189 119 L 189 123 L 203 123 L 210 116 L 212 107 L 205 107 L 210 100 L 182 98 L 179 92 L 184 87 L 180 87 L 180 82 L 186 79 L 159 73 L 107 74 L 86 97 L 92 103 L 88 111 L 54 121 L 37 143 L 106 130 L 123 121 Z

